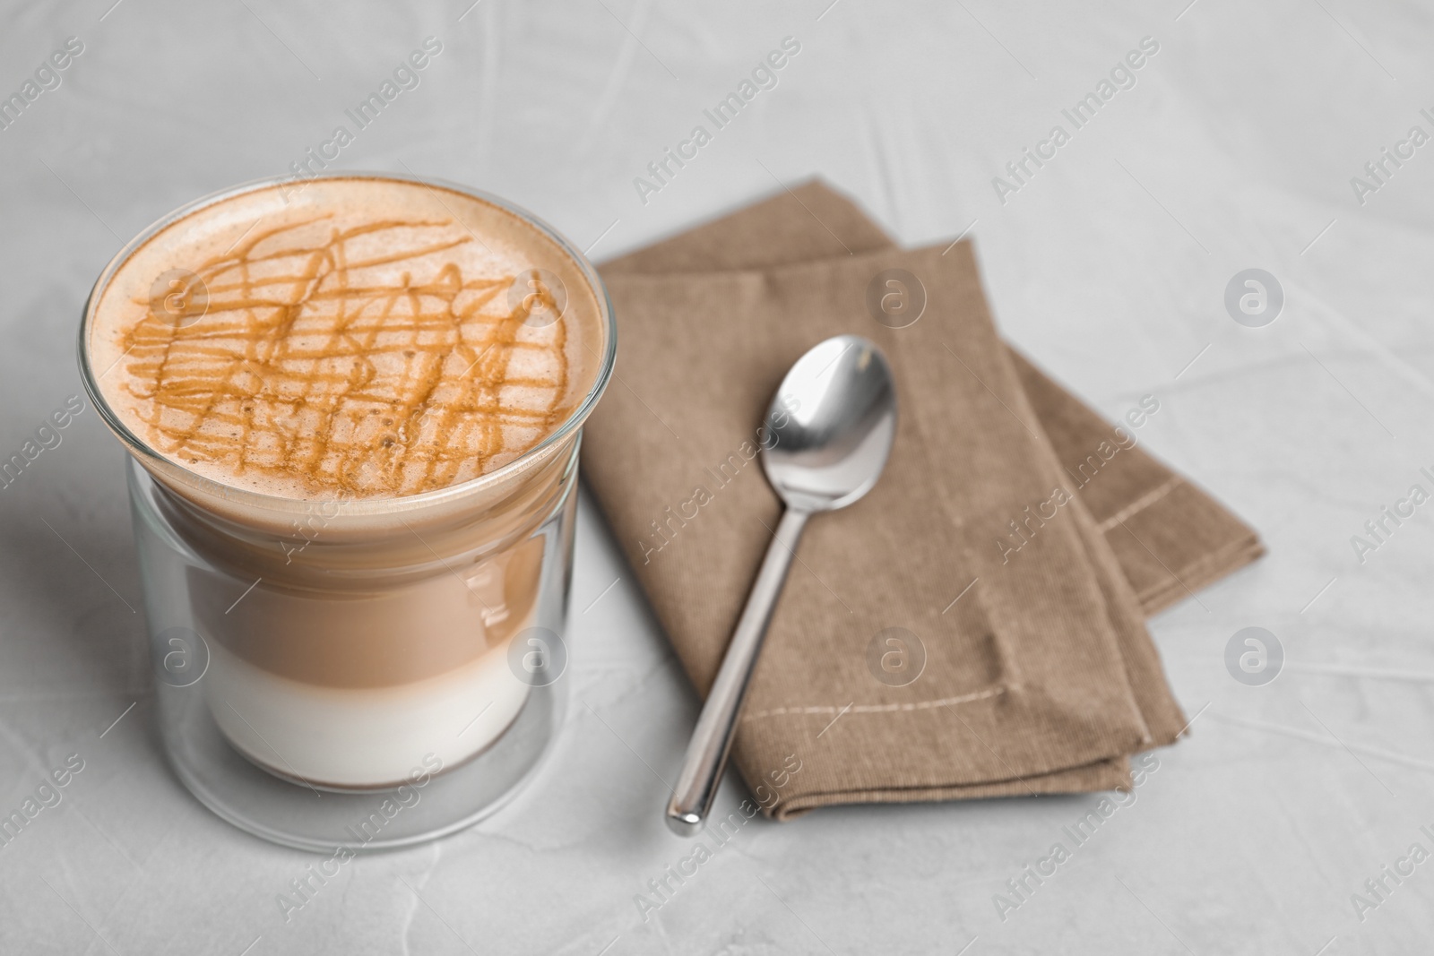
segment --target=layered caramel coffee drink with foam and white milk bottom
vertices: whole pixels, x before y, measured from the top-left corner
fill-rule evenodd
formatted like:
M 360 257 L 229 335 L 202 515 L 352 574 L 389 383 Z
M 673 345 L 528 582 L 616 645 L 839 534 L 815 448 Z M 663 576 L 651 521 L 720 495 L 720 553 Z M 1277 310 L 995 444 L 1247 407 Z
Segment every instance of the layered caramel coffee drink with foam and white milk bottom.
M 503 732 L 525 634 L 562 626 L 611 335 L 581 255 L 419 181 L 241 188 L 116 259 L 86 384 L 174 493 L 136 497 L 151 631 L 202 638 L 234 747 L 366 788 Z

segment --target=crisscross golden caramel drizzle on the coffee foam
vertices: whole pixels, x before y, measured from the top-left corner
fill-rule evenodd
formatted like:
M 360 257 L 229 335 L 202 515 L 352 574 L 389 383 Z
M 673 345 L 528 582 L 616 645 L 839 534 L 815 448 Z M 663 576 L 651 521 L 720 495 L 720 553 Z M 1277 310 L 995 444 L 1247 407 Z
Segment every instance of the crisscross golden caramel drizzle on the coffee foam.
M 476 477 L 566 417 L 565 322 L 521 337 L 522 302 L 483 314 L 513 277 L 465 281 L 443 254 L 470 236 L 450 221 L 384 219 L 300 241 L 327 218 L 195 269 L 208 310 L 194 324 L 145 302 L 120 345 L 156 450 L 308 490 L 396 496 Z M 397 229 L 416 248 L 350 258 L 360 236 Z M 394 265 L 406 269 L 397 285 L 364 281 Z M 409 271 L 419 267 L 423 281 Z

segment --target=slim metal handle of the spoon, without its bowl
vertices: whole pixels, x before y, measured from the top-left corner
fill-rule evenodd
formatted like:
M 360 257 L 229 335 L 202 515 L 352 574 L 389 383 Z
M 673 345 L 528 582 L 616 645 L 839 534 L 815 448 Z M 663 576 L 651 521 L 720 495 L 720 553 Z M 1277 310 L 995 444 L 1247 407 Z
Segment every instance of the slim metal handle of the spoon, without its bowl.
M 787 579 L 787 569 L 792 566 L 807 516 L 809 512 L 789 507 L 782 513 L 777 533 L 767 545 L 761 570 L 757 572 L 757 580 L 747 595 L 747 606 L 741 609 L 737 629 L 733 631 L 731 642 L 727 645 L 727 655 L 723 658 L 721 669 L 717 671 L 701 717 L 697 718 L 693 740 L 687 745 L 677 790 L 667 804 L 667 826 L 677 836 L 690 837 L 698 833 L 717 797 L 717 785 L 727 767 L 737 718 L 741 715 L 741 699 L 747 695 L 747 684 L 756 669 L 761 641 L 767 636 L 771 611 L 777 606 L 777 596 Z

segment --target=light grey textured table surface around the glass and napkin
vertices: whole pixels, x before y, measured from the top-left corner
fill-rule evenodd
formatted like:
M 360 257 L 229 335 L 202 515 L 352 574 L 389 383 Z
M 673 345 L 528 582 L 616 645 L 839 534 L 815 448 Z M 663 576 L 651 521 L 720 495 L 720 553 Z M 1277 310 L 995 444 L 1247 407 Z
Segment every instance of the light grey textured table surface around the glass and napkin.
M 1014 910 L 994 897 L 1097 797 L 757 820 L 644 912 L 690 850 L 661 777 L 697 705 L 585 500 L 574 705 L 542 777 L 285 919 L 314 857 L 211 816 L 158 751 L 123 451 L 86 408 L 0 490 L 0 814 L 83 760 L 0 847 L 0 950 L 1427 952 L 1434 863 L 1408 853 L 1434 850 L 1431 509 L 1352 539 L 1434 490 L 1428 3 L 470 1 L 0 3 L 0 93 L 83 44 L 0 129 L 0 457 L 80 393 L 80 307 L 125 239 L 284 173 L 432 36 L 337 168 L 496 192 L 594 259 L 822 175 L 905 244 L 969 231 L 1004 333 L 1106 414 L 1157 396 L 1144 447 L 1269 546 L 1152 622 L 1192 734 Z M 776 87 L 640 189 L 784 37 Z M 1143 37 L 1134 86 L 1076 129 L 1061 110 Z M 1068 142 L 1014 179 L 1055 125 Z M 1225 307 L 1246 268 L 1283 291 L 1262 328 Z M 1246 626 L 1285 649 L 1263 687 L 1226 666 Z

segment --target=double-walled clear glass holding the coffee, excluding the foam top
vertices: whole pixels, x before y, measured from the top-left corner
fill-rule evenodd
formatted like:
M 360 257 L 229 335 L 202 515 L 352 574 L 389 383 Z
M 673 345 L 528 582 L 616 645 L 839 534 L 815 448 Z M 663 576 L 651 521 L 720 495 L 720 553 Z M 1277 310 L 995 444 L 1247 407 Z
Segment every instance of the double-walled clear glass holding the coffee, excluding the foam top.
M 350 176 L 356 173 L 347 173 Z M 381 175 L 404 181 L 404 176 Z M 86 307 L 80 371 L 123 441 L 161 738 L 184 784 L 231 823 L 333 851 L 430 840 L 496 810 L 562 721 L 581 426 L 612 370 L 601 279 L 542 231 L 601 314 L 598 374 L 516 460 L 394 499 L 297 500 L 219 486 L 149 449 L 90 365 L 93 304 L 146 239 L 247 183 L 165 216 L 106 267 Z M 419 181 L 423 182 L 423 181 Z

